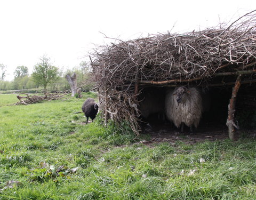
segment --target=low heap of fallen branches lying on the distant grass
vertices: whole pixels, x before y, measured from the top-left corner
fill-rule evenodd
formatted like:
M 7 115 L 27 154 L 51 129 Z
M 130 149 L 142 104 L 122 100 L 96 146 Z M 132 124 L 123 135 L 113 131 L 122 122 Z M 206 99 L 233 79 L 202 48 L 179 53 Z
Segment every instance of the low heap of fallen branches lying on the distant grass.
M 26 96 L 21 96 L 21 95 L 26 95 Z M 30 95 L 27 93 L 20 93 L 17 95 L 17 98 L 20 100 L 17 103 L 14 103 L 13 106 L 16 105 L 29 105 L 32 103 L 38 103 L 41 101 L 51 101 L 51 100 L 57 100 L 63 98 L 65 94 L 58 94 L 58 93 L 45 93 L 44 95 Z

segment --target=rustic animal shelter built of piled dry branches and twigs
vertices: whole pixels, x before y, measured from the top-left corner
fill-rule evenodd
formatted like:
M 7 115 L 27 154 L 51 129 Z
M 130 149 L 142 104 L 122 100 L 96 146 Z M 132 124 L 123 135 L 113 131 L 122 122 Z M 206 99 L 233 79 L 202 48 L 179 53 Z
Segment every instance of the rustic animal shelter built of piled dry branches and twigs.
M 105 123 L 111 118 L 122 129 L 126 121 L 139 134 L 138 97 L 148 87 L 197 86 L 217 90 L 216 95 L 229 87 L 226 122 L 229 138 L 234 140 L 239 86 L 254 87 L 256 82 L 256 13 L 202 31 L 115 39 L 94 49 L 91 65 Z M 256 107 L 255 99 L 249 101 Z

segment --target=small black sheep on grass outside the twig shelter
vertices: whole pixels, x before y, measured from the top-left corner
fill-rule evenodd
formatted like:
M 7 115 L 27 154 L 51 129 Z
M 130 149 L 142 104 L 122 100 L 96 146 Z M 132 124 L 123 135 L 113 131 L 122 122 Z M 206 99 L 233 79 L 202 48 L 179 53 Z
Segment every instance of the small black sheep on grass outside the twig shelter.
M 99 109 L 99 106 L 97 103 L 95 103 L 94 99 L 89 98 L 89 99 L 85 100 L 85 102 L 83 103 L 83 106 L 82 106 L 82 110 L 83 110 L 85 117 L 87 118 L 86 124 L 88 123 L 89 117 L 93 121 L 93 119 L 96 117 L 96 115 L 98 113 L 98 109 Z

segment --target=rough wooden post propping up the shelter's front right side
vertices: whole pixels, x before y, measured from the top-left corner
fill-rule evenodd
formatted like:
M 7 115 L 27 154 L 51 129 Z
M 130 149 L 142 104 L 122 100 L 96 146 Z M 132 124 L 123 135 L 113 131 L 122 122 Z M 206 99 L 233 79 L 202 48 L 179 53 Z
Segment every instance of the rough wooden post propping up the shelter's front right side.
M 227 126 L 228 126 L 228 137 L 230 140 L 235 141 L 235 128 L 238 129 L 238 126 L 235 123 L 235 108 L 236 108 L 236 97 L 239 87 L 241 85 L 241 74 L 237 76 L 235 86 L 233 87 L 231 99 L 228 105 L 228 119 L 227 119 Z

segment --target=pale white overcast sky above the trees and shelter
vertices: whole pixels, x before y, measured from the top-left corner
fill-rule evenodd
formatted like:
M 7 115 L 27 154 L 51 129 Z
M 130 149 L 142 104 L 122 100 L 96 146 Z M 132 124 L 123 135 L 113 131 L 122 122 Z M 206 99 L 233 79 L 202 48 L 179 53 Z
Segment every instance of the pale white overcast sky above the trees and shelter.
M 184 33 L 234 21 L 256 9 L 255 0 L 0 0 L 0 63 L 6 80 L 17 66 L 32 73 L 42 55 L 73 68 L 94 44 L 148 34 Z M 103 35 L 103 34 L 105 35 Z

